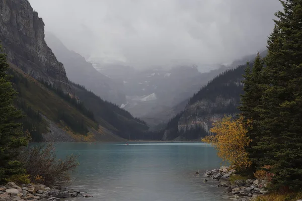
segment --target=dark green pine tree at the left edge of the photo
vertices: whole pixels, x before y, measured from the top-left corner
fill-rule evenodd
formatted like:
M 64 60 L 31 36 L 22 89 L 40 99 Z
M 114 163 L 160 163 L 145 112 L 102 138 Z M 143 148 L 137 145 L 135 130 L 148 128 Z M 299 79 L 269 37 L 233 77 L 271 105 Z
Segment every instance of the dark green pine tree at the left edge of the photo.
M 13 160 L 13 151 L 27 144 L 21 124 L 16 122 L 22 117 L 22 113 L 13 105 L 16 90 L 9 80 L 8 67 L 6 55 L 0 53 L 0 182 L 24 171 L 20 162 Z

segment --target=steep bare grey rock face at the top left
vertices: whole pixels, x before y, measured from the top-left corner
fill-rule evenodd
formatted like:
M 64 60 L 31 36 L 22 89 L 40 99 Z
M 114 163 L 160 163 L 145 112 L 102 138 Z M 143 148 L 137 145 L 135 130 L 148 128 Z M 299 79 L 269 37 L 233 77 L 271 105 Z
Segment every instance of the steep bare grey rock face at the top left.
M 0 40 L 8 60 L 36 79 L 68 81 L 44 40 L 44 23 L 27 0 L 0 0 Z

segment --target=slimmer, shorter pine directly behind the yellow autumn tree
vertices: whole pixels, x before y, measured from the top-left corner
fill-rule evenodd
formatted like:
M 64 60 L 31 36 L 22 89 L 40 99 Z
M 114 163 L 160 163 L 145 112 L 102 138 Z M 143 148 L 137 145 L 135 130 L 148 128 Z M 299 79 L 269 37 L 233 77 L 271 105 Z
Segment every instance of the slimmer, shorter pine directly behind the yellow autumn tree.
M 259 121 L 259 111 L 257 107 L 261 103 L 261 84 L 263 83 L 262 71 L 263 59 L 258 53 L 252 70 L 250 69 L 249 64 L 245 69 L 245 79 L 242 81 L 244 84 L 244 94 L 241 94 L 241 106 L 239 109 L 242 117 L 244 118 L 244 122 L 247 123 L 248 120 L 252 120 L 247 133 L 247 137 L 252 141 L 249 146 L 246 147 L 246 151 L 249 154 L 249 158 L 252 162 L 250 168 L 245 170 L 249 173 L 255 172 L 258 158 L 262 155 L 262 153 L 259 153 L 259 151 L 256 149 L 253 149 L 253 147 L 257 145 L 257 136 L 260 134 L 260 132 L 257 130 L 257 124 Z

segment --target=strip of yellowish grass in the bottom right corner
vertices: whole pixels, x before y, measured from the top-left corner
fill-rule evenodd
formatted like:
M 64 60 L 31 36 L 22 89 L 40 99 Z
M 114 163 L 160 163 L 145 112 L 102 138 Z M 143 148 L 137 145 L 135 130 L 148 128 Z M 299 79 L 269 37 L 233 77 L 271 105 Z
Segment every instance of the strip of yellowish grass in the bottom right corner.
M 254 199 L 254 201 L 296 201 L 302 199 L 302 191 L 296 193 L 271 193 L 268 195 L 261 195 Z

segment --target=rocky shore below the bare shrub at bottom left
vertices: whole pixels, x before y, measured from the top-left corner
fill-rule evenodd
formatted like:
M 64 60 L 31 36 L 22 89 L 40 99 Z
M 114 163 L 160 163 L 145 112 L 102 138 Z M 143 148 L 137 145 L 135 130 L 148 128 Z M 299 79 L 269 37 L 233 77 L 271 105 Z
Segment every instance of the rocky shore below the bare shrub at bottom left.
M 22 184 L 16 185 L 9 182 L 0 185 L 0 201 L 25 201 L 25 200 L 65 200 L 72 201 L 75 197 L 92 197 L 80 191 L 61 186 L 46 187 L 42 184 Z

